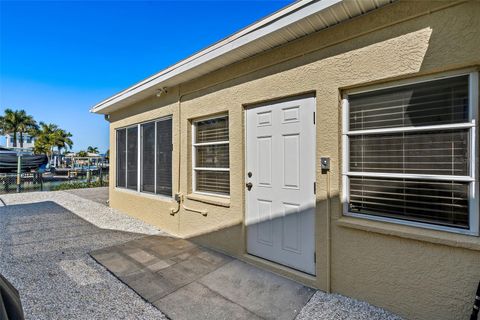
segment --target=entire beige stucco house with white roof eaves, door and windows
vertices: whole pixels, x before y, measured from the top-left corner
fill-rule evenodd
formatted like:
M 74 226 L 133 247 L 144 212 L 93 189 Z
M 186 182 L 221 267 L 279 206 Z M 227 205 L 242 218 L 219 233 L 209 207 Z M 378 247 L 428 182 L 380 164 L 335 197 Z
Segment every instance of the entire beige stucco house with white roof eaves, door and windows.
M 409 319 L 480 280 L 480 2 L 302 0 L 100 102 L 110 205 Z

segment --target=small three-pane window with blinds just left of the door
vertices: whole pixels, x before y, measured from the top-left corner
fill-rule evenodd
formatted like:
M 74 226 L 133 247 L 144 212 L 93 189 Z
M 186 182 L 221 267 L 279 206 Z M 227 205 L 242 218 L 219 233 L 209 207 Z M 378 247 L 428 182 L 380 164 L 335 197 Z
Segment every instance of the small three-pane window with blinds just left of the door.
M 228 117 L 193 123 L 193 190 L 215 195 L 230 194 Z

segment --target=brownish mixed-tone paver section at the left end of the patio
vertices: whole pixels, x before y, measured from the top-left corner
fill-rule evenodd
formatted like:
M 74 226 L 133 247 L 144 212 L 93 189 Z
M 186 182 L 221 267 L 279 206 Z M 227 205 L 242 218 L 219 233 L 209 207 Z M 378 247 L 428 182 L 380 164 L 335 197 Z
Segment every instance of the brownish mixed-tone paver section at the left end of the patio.
M 147 236 L 90 255 L 150 302 L 231 261 L 223 254 L 169 236 Z

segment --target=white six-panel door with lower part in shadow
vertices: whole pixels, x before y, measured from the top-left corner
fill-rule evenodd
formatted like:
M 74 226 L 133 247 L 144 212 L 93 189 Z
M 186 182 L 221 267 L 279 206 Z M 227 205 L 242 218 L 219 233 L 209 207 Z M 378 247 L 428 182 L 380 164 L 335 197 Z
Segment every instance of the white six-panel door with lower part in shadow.
M 247 251 L 315 274 L 315 98 L 246 112 Z

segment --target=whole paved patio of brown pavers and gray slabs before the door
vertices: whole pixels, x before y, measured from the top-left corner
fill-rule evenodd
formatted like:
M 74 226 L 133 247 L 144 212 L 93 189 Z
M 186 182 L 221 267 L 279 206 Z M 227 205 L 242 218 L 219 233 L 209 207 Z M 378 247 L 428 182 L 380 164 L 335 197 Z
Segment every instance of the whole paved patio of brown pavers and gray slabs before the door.
M 171 319 L 289 320 L 315 292 L 172 237 L 149 236 L 91 255 Z

